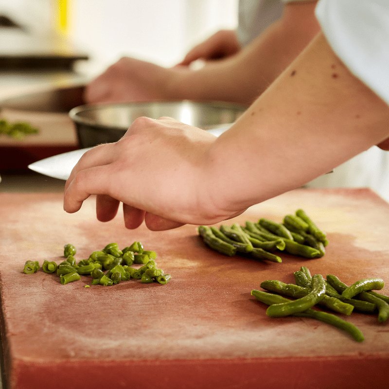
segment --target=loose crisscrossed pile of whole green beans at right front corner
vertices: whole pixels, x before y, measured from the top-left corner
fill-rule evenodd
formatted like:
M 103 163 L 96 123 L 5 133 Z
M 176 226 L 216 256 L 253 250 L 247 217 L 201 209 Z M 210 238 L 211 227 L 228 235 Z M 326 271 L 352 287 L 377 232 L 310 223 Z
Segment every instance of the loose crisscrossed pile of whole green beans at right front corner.
M 321 274 L 312 277 L 306 266 L 301 266 L 300 270 L 294 273 L 294 277 L 296 284 L 266 280 L 260 285 L 265 289 L 264 291 L 251 290 L 251 296 L 269 305 L 266 310 L 267 316 L 315 318 L 347 332 L 358 342 L 362 342 L 364 336 L 354 324 L 334 314 L 312 308 L 319 305 L 347 316 L 350 316 L 354 310 L 362 313 L 378 313 L 379 323 L 389 318 L 389 297 L 371 290 L 382 289 L 384 287 L 382 279 L 368 278 L 347 286 L 332 274 L 327 275 L 326 279 Z M 295 300 L 289 300 L 284 296 Z

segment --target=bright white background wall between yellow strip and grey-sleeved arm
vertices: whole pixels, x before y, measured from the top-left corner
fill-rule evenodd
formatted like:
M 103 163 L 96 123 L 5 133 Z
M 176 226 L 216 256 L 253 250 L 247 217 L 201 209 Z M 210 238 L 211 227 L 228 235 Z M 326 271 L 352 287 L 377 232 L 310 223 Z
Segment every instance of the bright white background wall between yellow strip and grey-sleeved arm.
M 70 38 L 99 72 L 122 56 L 171 66 L 237 25 L 237 0 L 69 0 Z

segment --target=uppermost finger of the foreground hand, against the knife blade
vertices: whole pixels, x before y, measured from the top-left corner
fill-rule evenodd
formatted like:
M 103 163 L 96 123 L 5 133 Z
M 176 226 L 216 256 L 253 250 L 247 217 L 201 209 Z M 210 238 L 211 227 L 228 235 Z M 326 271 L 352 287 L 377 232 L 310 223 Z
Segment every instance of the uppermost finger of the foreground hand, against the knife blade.
M 74 166 L 69 178 L 65 183 L 65 191 L 68 189 L 73 178 L 78 172 L 84 169 L 88 169 L 93 166 L 101 166 L 111 163 L 115 158 L 115 153 L 111 150 L 114 147 L 114 143 L 100 144 L 92 149 L 88 150 Z

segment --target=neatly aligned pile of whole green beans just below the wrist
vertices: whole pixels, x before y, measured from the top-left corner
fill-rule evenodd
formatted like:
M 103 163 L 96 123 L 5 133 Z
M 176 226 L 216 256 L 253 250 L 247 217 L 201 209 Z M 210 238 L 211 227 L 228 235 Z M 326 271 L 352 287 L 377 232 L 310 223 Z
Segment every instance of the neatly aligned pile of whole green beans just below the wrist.
M 261 218 L 257 223 L 247 221 L 245 226 L 237 223 L 219 228 L 199 226 L 197 231 L 207 246 L 222 254 L 277 263 L 282 262 L 277 251 L 320 258 L 328 245 L 326 234 L 301 209 L 294 215 L 286 215 L 282 224 Z

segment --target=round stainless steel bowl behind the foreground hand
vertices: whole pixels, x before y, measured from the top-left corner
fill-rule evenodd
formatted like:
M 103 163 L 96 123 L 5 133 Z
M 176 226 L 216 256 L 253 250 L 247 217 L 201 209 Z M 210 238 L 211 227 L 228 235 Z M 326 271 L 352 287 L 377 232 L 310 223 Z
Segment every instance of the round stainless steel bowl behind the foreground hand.
M 141 116 L 158 119 L 169 116 L 204 130 L 236 121 L 246 106 L 222 102 L 120 103 L 77 106 L 69 112 L 76 125 L 80 147 L 118 141 L 131 123 Z

